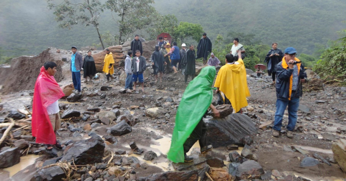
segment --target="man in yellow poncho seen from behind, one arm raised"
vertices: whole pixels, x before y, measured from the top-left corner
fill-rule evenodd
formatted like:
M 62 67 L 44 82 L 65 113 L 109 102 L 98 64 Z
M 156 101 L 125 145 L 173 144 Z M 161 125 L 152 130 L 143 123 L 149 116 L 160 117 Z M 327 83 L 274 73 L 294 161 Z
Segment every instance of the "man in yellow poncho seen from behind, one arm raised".
M 239 59 L 237 62 L 234 62 L 232 54 L 226 55 L 226 65 L 219 70 L 214 84 L 214 87 L 217 88 L 216 92 L 223 92 L 225 100 L 228 99 L 233 109 L 240 113 L 241 109 L 247 106 L 246 97 L 250 96 L 246 81 L 245 65 L 241 54 L 238 51 Z

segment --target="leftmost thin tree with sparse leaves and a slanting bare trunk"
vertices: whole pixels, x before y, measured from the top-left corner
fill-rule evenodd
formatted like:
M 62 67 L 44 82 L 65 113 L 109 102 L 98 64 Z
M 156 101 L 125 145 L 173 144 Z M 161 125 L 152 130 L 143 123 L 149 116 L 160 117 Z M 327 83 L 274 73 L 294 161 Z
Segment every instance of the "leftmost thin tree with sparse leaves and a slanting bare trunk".
M 99 15 L 103 12 L 101 2 L 99 0 L 78 0 L 79 3 L 72 3 L 70 0 L 64 0 L 61 4 L 55 5 L 49 3 L 53 0 L 47 0 L 48 8 L 55 9 L 53 14 L 55 20 L 61 22 L 59 27 L 71 29 L 73 25 L 81 22 L 85 26 L 93 25 L 99 35 L 99 39 L 104 49 L 102 38 L 99 31 Z M 74 1 L 75 2 L 75 1 Z

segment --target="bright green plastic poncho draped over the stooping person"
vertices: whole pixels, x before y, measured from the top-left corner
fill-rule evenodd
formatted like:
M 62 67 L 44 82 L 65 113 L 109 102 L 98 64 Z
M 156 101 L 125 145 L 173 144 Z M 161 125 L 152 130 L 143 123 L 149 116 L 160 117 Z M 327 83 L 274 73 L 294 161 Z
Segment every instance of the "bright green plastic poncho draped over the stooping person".
M 185 89 L 176 113 L 172 144 L 167 155 L 172 162 L 184 162 L 183 144 L 210 106 L 215 74 L 214 66 L 204 67 Z

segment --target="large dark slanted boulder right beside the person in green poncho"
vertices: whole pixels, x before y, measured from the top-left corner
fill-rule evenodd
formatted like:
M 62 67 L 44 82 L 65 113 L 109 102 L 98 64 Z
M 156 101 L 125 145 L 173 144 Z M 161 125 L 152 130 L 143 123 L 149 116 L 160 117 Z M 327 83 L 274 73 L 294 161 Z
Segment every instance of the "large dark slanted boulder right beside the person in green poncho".
M 207 123 L 208 142 L 214 147 L 225 145 L 243 145 L 246 136 L 257 134 L 255 124 L 243 114 L 231 114 L 225 118 L 204 119 Z

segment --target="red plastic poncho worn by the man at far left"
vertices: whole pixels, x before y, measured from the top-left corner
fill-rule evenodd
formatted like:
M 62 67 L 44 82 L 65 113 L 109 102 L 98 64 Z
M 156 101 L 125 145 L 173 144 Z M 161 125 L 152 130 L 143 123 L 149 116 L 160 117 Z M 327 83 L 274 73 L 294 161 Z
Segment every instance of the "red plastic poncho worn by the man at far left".
M 31 130 L 33 136 L 36 137 L 36 143 L 56 143 L 47 107 L 64 96 L 65 94 L 54 77 L 49 75 L 44 66 L 42 66 L 35 83 L 33 117 L 31 120 Z

